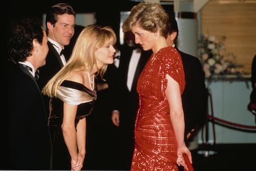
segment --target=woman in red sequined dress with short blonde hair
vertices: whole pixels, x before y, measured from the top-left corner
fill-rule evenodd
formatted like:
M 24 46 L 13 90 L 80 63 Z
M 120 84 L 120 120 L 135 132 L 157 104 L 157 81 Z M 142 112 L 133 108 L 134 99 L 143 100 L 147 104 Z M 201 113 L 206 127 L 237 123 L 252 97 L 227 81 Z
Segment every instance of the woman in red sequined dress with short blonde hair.
M 140 107 L 131 170 L 178 170 L 177 165 L 187 170 L 183 153 L 192 163 L 184 143 L 184 70 L 179 52 L 166 42 L 168 19 L 160 4 L 140 2 L 122 25 L 143 50 L 153 51 L 137 83 Z

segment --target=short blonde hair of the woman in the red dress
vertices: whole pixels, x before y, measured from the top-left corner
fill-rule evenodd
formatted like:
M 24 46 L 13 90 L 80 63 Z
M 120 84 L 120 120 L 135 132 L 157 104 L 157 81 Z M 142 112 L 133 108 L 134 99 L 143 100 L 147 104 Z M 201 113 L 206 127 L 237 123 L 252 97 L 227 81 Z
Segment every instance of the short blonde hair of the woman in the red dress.
M 144 30 L 153 33 L 160 30 L 160 34 L 167 37 L 168 20 L 169 14 L 158 2 L 140 2 L 130 10 L 130 15 L 124 20 L 122 30 L 130 31 L 136 23 L 139 23 Z

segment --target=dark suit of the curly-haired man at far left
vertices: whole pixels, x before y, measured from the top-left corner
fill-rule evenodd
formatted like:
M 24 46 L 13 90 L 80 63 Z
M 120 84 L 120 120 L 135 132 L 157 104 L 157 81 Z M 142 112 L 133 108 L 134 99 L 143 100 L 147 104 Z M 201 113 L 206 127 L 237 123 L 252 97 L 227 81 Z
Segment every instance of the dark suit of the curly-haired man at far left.
M 9 65 L 9 161 L 11 170 L 51 169 L 51 136 L 35 78 L 20 64 Z

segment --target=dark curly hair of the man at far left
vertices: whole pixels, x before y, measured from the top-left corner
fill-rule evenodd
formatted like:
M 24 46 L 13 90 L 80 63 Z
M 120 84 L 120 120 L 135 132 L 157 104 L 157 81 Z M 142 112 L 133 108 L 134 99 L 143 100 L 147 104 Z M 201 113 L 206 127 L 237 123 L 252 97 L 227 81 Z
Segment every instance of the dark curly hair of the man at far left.
M 8 55 L 15 64 L 32 55 L 33 40 L 43 43 L 43 26 L 32 17 L 12 20 L 9 31 Z

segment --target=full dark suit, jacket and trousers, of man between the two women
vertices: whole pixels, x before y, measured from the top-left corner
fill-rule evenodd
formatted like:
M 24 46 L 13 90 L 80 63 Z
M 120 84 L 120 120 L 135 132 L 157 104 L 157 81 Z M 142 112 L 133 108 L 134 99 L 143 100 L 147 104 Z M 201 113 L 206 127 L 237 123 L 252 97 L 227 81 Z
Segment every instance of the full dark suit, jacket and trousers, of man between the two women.
M 120 111 L 120 130 L 121 130 L 121 156 L 120 159 L 122 170 L 129 170 L 132 161 L 132 154 L 134 151 L 134 125 L 137 109 L 139 108 L 139 94 L 136 86 L 137 80 L 142 72 L 145 64 L 151 56 L 151 51 L 143 51 L 140 54 L 140 59 L 135 70 L 132 88 L 129 91 L 127 87 L 127 75 L 129 70 L 129 62 L 132 57 L 134 48 L 129 46 L 121 46 L 118 72 L 118 95 L 116 102 L 117 109 Z

